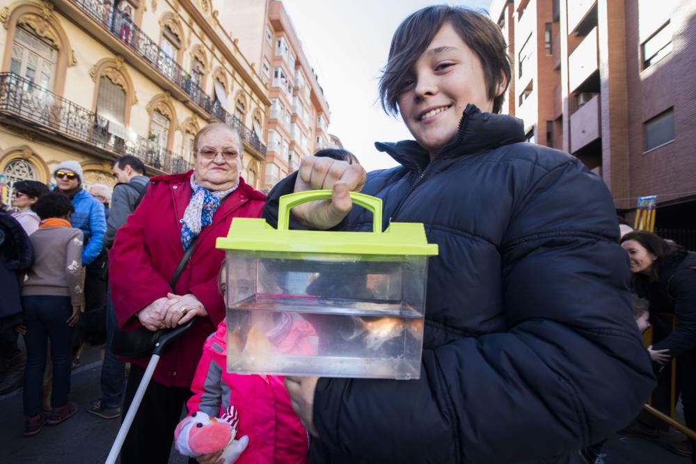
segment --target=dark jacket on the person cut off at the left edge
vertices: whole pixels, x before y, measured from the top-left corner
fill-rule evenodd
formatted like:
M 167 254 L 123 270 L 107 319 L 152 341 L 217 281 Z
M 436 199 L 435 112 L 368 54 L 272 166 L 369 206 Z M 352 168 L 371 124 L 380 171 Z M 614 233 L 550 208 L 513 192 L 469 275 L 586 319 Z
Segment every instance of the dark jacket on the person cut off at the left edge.
M 22 225 L 10 214 L 0 213 L 0 330 L 22 323 L 19 283 L 33 259 L 31 241 Z

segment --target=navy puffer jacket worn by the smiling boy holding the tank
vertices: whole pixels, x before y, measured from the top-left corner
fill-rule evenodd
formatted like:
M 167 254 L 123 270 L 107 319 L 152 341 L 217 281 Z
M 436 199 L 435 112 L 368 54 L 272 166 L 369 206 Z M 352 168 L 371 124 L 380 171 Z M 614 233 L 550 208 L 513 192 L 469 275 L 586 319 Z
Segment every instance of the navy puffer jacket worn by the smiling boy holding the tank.
M 558 462 L 626 426 L 654 379 L 628 300 L 628 259 L 602 180 L 522 123 L 468 106 L 429 163 L 367 176 L 389 218 L 424 223 L 430 261 L 418 381 L 322 378 L 313 463 Z M 271 192 L 265 211 L 294 176 Z M 294 224 L 296 226 L 296 224 Z M 354 208 L 340 225 L 370 230 Z

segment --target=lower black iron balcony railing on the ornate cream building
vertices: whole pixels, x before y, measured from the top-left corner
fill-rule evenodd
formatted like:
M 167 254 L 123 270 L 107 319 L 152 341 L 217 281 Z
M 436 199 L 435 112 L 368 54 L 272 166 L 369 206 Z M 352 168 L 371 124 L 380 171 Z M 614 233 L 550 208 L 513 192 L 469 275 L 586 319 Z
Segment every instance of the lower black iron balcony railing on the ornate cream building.
M 12 72 L 0 73 L 0 113 L 12 113 L 37 124 L 89 143 L 115 156 L 132 154 L 152 168 L 183 173 L 191 163 L 141 136 L 125 140 L 109 133 L 109 120 L 59 97 Z

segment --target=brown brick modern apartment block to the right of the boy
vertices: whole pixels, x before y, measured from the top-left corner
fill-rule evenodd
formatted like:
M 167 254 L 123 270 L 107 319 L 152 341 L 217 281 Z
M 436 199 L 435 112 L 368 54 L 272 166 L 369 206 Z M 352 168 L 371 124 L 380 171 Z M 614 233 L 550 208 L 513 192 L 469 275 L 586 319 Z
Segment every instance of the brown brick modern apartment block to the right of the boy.
M 528 139 L 601 175 L 628 219 L 657 195 L 658 232 L 693 246 L 696 3 L 494 0 L 490 13 L 514 65 L 504 110 Z

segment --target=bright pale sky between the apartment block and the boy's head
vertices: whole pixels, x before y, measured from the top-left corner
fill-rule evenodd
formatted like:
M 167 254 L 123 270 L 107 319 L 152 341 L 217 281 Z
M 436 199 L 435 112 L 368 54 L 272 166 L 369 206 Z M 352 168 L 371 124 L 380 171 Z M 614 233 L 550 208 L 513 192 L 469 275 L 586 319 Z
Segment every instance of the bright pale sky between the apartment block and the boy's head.
M 429 4 L 432 1 L 283 0 L 329 101 L 329 132 L 338 136 L 368 171 L 396 164 L 388 154 L 375 150 L 375 141 L 411 138 L 400 118 L 382 111 L 377 79 L 397 26 Z M 457 4 L 489 8 L 491 0 Z

